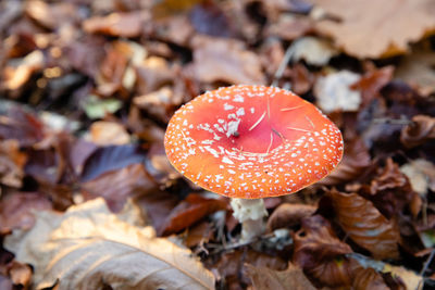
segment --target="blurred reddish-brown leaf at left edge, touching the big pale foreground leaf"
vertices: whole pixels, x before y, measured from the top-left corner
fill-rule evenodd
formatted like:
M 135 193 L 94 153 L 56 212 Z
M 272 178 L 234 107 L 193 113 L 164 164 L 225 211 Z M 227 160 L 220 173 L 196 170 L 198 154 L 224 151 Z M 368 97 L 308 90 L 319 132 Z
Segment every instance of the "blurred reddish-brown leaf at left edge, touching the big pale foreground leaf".
M 38 192 L 12 192 L 0 201 L 0 232 L 29 229 L 35 223 L 34 212 L 50 210 L 51 202 Z

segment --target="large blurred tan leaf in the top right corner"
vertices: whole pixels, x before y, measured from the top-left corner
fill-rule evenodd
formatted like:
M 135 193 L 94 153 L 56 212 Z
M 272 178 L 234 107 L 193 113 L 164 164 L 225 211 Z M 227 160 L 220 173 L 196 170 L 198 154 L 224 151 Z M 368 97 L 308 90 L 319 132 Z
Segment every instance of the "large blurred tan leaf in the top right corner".
M 333 20 L 320 21 L 316 29 L 358 58 L 403 53 L 435 29 L 432 0 L 310 0 Z M 337 21 L 337 18 L 339 21 Z

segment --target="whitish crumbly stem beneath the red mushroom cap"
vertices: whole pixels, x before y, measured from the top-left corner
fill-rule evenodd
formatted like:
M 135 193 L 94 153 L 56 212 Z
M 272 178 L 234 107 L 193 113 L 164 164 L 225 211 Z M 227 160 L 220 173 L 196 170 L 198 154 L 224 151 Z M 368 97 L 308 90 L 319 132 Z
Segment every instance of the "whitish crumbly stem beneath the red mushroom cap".
M 268 212 L 263 199 L 232 199 L 233 216 L 241 223 L 240 242 L 250 241 L 265 230 Z

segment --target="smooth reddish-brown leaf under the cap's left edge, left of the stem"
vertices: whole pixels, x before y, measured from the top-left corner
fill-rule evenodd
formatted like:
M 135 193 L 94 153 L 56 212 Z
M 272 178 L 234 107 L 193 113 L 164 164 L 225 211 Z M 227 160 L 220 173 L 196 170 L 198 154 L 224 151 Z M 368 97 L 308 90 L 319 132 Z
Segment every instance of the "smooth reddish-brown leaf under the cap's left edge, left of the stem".
M 176 234 L 201 220 L 201 218 L 209 214 L 225 210 L 226 205 L 227 203 L 223 200 L 207 199 L 191 193 L 172 210 L 160 232 L 163 236 Z

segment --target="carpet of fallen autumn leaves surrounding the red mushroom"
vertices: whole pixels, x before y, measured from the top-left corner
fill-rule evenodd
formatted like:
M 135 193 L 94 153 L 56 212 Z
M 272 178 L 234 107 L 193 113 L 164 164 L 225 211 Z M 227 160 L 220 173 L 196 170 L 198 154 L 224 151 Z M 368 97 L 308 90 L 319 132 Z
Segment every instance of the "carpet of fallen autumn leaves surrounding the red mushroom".
M 434 9 L 1 1 L 0 288 L 433 288 Z M 246 243 L 163 147 L 176 109 L 238 84 L 294 90 L 345 138 Z

